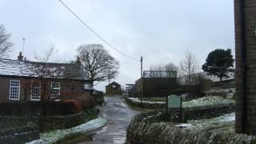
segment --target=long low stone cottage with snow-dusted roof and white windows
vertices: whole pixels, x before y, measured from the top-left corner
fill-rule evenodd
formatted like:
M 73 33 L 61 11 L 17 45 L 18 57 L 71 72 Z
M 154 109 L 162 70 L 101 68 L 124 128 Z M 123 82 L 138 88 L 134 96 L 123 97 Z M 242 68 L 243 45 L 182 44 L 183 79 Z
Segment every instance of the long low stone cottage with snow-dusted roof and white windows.
M 0 59 L 0 102 L 62 101 L 74 99 L 89 83 L 81 62 L 30 62 Z

